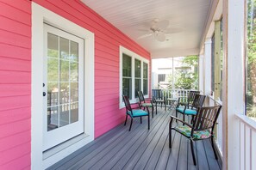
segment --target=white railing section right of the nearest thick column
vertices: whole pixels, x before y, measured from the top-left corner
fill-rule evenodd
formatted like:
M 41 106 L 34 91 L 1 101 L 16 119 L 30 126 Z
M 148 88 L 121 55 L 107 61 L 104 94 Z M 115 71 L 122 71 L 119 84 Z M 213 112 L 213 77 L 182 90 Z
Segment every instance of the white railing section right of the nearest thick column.
M 256 122 L 246 115 L 236 114 L 239 120 L 240 169 L 256 169 Z

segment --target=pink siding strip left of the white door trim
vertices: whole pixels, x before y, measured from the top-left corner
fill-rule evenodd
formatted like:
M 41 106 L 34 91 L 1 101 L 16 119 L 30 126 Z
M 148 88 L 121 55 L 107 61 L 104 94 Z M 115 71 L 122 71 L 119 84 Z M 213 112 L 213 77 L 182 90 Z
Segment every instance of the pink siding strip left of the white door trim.
M 29 169 L 31 2 L 0 0 L 0 169 Z

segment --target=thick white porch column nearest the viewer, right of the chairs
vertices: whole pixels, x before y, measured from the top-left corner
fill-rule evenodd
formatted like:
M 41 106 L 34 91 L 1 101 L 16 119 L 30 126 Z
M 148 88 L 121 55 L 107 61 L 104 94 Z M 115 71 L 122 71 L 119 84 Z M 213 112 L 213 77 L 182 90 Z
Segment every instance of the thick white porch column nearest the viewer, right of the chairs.
M 223 167 L 240 167 L 239 122 L 245 110 L 245 13 L 242 0 L 223 1 Z

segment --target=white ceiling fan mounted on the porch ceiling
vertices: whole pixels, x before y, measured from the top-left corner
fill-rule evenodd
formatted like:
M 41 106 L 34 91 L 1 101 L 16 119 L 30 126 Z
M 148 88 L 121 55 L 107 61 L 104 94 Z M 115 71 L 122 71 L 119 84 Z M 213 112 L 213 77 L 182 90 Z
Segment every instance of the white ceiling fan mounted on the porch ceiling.
M 166 34 L 181 32 L 180 28 L 169 28 L 169 21 L 163 20 L 159 21 L 158 18 L 153 19 L 147 29 L 140 29 L 140 31 L 147 31 L 149 33 L 143 34 L 137 39 L 145 39 L 147 37 L 153 36 L 154 39 L 163 42 L 166 39 Z

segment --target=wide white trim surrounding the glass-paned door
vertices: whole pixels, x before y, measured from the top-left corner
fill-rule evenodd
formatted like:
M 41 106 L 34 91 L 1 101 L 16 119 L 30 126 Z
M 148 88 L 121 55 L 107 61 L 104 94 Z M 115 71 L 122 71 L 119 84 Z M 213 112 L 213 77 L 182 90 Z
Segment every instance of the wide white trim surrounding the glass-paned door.
M 84 39 L 84 136 L 48 157 L 42 153 L 44 22 Z M 31 85 L 31 169 L 46 169 L 94 140 L 94 33 L 33 2 Z

